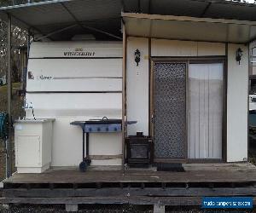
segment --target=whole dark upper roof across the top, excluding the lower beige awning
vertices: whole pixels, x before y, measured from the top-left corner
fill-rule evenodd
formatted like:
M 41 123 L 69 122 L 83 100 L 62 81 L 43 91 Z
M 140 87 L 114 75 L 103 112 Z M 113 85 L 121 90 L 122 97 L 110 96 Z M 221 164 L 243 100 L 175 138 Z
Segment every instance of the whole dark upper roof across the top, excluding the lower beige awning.
M 92 33 L 98 39 L 117 39 L 121 37 L 121 11 L 256 20 L 255 4 L 224 0 L 53 0 L 4 7 L 0 9 L 0 17 L 7 20 L 9 14 L 16 26 L 32 33 L 57 32 L 50 34 L 53 40 L 69 40 L 75 34 L 84 33 Z M 104 35 L 102 31 L 107 33 Z

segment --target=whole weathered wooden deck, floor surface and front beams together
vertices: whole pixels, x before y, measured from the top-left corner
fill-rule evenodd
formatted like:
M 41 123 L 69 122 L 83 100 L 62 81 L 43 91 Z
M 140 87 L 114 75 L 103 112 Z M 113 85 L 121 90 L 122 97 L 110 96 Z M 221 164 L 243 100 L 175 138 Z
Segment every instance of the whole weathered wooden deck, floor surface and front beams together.
M 184 164 L 184 172 L 47 170 L 3 181 L 0 203 L 200 205 L 204 196 L 256 195 L 253 164 Z

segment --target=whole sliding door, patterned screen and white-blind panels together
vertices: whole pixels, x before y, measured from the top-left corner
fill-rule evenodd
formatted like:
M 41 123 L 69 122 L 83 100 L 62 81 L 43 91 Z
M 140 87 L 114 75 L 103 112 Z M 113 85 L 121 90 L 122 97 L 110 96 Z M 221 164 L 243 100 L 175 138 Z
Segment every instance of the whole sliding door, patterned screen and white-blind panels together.
M 224 60 L 155 60 L 151 85 L 154 159 L 222 160 Z

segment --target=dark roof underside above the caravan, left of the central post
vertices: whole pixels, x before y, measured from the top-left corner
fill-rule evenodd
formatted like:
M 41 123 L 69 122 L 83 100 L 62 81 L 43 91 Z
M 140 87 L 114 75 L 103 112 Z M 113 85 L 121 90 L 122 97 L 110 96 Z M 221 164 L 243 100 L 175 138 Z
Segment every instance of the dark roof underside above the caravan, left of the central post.
M 69 40 L 79 33 L 93 33 L 99 39 L 111 39 L 81 25 L 99 28 L 120 37 L 121 8 L 120 0 L 55 0 L 1 8 L 0 17 L 5 20 L 6 14 L 10 14 L 15 25 L 40 34 L 48 34 L 74 23 L 78 24 L 65 33 L 51 36 L 57 40 Z

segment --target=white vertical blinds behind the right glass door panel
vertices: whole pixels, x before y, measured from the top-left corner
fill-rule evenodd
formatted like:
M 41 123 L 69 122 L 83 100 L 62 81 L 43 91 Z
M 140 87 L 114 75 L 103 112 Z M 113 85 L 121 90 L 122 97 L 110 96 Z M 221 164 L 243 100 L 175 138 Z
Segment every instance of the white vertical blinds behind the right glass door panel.
M 189 64 L 188 157 L 222 158 L 223 64 Z

